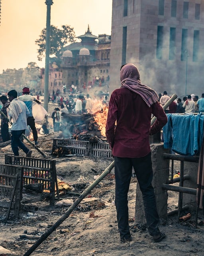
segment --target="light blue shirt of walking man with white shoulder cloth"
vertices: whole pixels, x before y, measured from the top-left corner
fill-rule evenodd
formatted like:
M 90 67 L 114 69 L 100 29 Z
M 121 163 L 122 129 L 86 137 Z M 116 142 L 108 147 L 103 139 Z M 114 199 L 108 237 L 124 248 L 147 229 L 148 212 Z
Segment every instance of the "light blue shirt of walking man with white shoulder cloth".
M 11 130 L 26 130 L 27 128 L 27 117 L 29 116 L 30 112 L 26 107 L 26 104 L 21 100 L 18 100 L 18 104 L 20 105 L 22 112 L 19 114 L 18 119 L 14 124 L 12 124 Z M 10 111 L 8 111 L 9 116 L 11 116 Z M 11 116 L 12 117 L 12 116 Z

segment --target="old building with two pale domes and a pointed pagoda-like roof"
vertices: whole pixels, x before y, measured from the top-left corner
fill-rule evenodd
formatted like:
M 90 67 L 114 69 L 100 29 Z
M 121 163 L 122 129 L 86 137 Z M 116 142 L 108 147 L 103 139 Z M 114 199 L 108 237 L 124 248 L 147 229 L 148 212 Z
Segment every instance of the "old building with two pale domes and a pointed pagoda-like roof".
M 110 36 L 94 36 L 88 26 L 84 35 L 78 36 L 81 42 L 66 46 L 62 55 L 61 70 L 63 84 L 74 84 L 78 88 L 91 85 L 99 79 L 109 82 L 110 76 Z

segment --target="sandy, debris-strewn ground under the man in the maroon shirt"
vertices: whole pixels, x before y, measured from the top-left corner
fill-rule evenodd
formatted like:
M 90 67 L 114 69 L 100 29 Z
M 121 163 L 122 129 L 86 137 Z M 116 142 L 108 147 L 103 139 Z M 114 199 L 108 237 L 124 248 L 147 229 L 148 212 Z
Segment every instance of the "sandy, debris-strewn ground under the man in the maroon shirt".
M 51 159 L 56 159 L 57 176 L 60 180 L 80 184 L 74 192 L 81 193 L 94 181 L 94 176 L 101 174 L 112 160 L 73 156 L 71 158 L 53 158 L 51 148 L 53 138 L 58 133 L 41 136 L 41 150 Z M 6 152 L 9 152 L 9 147 Z M 20 152 L 23 156 L 24 153 Z M 33 157 L 41 157 L 33 150 Z M 4 152 L 0 150 L 1 162 L 4 162 Z M 175 167 L 176 168 L 176 167 Z M 137 180 L 132 178 L 129 189 L 129 226 L 133 241 L 120 242 L 114 206 L 114 170 L 91 192 L 86 202 L 81 202 L 77 208 L 31 255 L 36 256 L 135 256 L 135 255 L 204 255 L 204 226 L 195 229 L 195 213 L 187 222 L 178 222 L 178 216 L 169 216 L 167 222 L 160 226 L 166 238 L 162 242 L 153 242 L 145 227 L 134 225 L 135 188 Z M 93 198 L 95 198 L 93 200 Z M 77 196 L 65 195 L 61 199 L 76 200 Z M 91 201 L 93 200 L 93 201 Z M 56 201 L 57 202 L 57 201 Z M 178 206 L 177 192 L 169 191 L 169 210 Z M 9 249 L 15 255 L 23 256 L 37 241 L 20 238 L 20 235 L 41 236 L 65 214 L 69 206 L 49 207 L 49 202 L 26 204 L 20 212 L 20 219 L 15 219 L 13 211 L 5 224 L 7 209 L 0 208 L 0 246 Z M 188 211 L 183 212 L 183 215 Z M 202 212 L 199 212 L 202 219 Z M 0 254 L 2 255 L 2 254 Z M 12 255 L 12 254 L 3 254 Z

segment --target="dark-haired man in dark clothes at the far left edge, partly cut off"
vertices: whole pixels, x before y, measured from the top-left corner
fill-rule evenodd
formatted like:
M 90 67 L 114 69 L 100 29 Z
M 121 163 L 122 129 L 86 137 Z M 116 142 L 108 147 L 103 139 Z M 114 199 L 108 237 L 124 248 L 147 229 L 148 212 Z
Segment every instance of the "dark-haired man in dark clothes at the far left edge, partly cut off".
M 8 107 L 10 105 L 10 102 L 8 102 L 8 98 L 5 95 L 2 95 L 0 97 L 0 101 L 3 104 L 2 112 L 5 116 L 8 117 Z M 5 116 L 1 115 L 1 134 L 3 142 L 10 140 L 10 134 L 8 132 L 8 119 L 6 119 Z

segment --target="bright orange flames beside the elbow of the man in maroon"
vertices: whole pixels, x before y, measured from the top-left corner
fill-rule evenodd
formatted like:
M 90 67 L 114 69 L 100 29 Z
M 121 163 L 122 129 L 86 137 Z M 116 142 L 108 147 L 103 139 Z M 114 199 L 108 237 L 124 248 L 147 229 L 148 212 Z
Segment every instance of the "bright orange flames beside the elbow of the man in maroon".
M 101 131 L 102 136 L 106 136 L 106 120 L 108 116 L 108 106 L 98 110 L 93 114 L 95 122 L 98 124 L 98 130 Z

